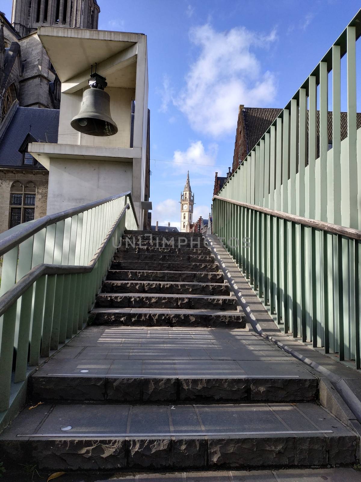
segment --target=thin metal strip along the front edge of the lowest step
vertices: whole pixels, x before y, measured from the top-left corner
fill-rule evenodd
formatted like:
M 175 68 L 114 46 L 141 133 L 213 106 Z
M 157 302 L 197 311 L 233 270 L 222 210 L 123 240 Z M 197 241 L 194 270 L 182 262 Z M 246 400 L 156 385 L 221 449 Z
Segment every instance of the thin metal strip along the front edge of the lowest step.
M 313 434 L 313 433 L 334 433 L 333 430 L 282 430 L 282 431 L 268 431 L 268 432 L 168 432 L 168 433 L 34 433 L 34 434 L 17 434 L 16 437 L 27 438 L 128 438 L 128 437 L 146 437 L 156 439 L 157 437 L 200 437 L 200 436 L 219 436 L 226 437 L 232 435 L 293 435 L 293 434 Z

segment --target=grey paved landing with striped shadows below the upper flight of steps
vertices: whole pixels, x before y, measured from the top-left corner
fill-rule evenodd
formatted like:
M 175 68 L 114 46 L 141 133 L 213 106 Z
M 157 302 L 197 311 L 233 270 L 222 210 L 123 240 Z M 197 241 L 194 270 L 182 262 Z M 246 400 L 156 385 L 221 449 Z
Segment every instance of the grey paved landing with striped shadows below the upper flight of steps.
M 122 363 L 122 362 L 129 363 Z M 313 378 L 299 362 L 240 329 L 89 327 L 35 376 Z

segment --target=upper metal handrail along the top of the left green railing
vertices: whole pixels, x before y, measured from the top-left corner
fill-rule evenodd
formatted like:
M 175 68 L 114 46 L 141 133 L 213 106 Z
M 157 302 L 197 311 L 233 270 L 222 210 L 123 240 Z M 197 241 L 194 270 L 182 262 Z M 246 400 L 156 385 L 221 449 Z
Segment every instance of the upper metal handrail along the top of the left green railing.
M 100 206 L 105 202 L 114 201 L 118 198 L 122 198 L 123 196 L 128 196 L 130 206 L 133 210 L 135 222 L 139 227 L 138 217 L 135 212 L 133 200 L 131 199 L 131 196 L 129 196 L 130 194 L 131 194 L 131 191 L 122 192 L 120 194 L 117 194 L 116 196 L 109 196 L 108 198 L 103 198 L 98 201 L 88 202 L 87 204 L 83 204 L 82 206 L 77 206 L 75 208 L 70 208 L 65 211 L 60 211 L 59 213 L 47 214 L 46 216 L 40 217 L 32 224 L 25 226 L 24 229 L 21 229 L 16 233 L 10 234 L 8 237 L 0 241 L 0 256 L 7 253 L 18 244 L 22 243 L 26 239 L 30 238 L 34 234 L 41 231 L 41 229 L 46 228 L 51 224 L 57 223 L 59 221 L 63 221 L 63 219 L 66 219 L 68 217 L 75 216 L 76 214 L 80 214 L 84 211 L 88 211 L 90 209 L 96 208 L 97 206 Z

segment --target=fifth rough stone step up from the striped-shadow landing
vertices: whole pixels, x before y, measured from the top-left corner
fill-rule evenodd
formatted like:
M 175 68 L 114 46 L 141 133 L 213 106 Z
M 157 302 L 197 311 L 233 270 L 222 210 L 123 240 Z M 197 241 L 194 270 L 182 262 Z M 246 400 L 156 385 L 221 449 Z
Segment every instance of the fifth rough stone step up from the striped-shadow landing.
M 110 269 L 127 269 L 130 271 L 138 271 L 147 268 L 150 271 L 196 271 L 217 273 L 219 271 L 219 265 L 216 263 L 191 263 L 191 262 L 172 262 L 172 261 L 116 261 L 113 260 Z

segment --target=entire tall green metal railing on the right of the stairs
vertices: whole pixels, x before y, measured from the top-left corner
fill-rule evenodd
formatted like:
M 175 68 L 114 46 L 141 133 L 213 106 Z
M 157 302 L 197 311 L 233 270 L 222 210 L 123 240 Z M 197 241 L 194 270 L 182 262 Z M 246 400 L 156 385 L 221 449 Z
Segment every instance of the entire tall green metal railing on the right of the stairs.
M 355 360 L 357 368 L 361 129 L 356 113 L 356 40 L 360 35 L 361 11 L 227 180 L 214 198 L 213 212 L 214 233 L 224 238 L 284 332 L 324 347 L 326 353 L 338 353 L 340 360 Z M 341 77 L 346 78 L 343 90 Z M 344 91 L 347 112 L 341 112 Z M 347 123 L 346 134 L 341 120 Z M 239 240 L 238 248 L 232 247 L 231 237 Z

